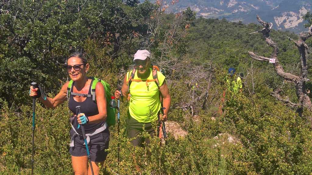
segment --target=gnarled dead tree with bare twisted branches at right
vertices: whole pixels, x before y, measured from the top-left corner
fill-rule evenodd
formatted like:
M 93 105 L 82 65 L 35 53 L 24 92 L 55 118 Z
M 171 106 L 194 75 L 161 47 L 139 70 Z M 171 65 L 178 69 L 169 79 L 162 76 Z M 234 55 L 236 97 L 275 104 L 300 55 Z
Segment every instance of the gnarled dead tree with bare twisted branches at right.
M 298 47 L 298 50 L 300 52 L 300 61 L 301 61 L 301 74 L 300 76 L 293 75 L 291 73 L 286 73 L 282 67 L 282 65 L 279 63 L 279 60 L 277 58 L 278 56 L 278 46 L 277 44 L 271 40 L 270 38 L 270 31 L 272 29 L 273 24 L 264 22 L 260 19 L 260 17 L 257 15 L 258 21 L 264 26 L 264 28 L 261 31 L 256 31 L 253 33 L 262 33 L 263 36 L 266 39 L 266 43 L 270 45 L 273 48 L 273 53 L 271 55 L 271 59 L 275 59 L 274 68 L 277 75 L 284 78 L 285 80 L 295 83 L 296 87 L 296 95 L 299 99 L 299 103 L 293 103 L 290 102 L 289 98 L 282 98 L 280 96 L 280 89 L 276 89 L 274 92 L 271 93 L 271 95 L 278 100 L 285 102 L 288 106 L 291 107 L 307 107 L 310 110 L 312 110 L 312 104 L 309 96 L 307 95 L 306 85 L 305 83 L 309 81 L 308 79 L 308 69 L 307 69 L 307 59 L 308 59 L 308 46 L 305 44 L 305 40 L 312 36 L 312 25 L 309 28 L 309 32 L 305 33 L 302 32 L 299 34 L 299 40 L 293 40 L 288 37 L 290 41 L 293 41 L 295 45 Z M 250 34 L 253 34 L 250 33 Z M 251 58 L 258 60 L 258 61 L 270 61 L 270 58 L 258 56 L 255 53 L 248 51 Z

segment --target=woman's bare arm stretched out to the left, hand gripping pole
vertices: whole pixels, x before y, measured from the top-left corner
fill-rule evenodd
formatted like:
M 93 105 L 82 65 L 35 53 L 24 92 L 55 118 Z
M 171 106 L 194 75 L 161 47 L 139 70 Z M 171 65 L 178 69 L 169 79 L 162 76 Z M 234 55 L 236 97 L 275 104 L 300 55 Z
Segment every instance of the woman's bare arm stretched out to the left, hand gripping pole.
M 50 98 L 50 97 L 46 97 L 46 100 L 44 100 L 41 97 L 39 97 L 39 100 L 46 106 L 49 108 L 55 108 L 56 106 L 58 106 L 59 104 L 63 103 L 66 100 L 66 96 L 67 96 L 67 86 L 68 86 L 69 82 L 66 82 L 62 88 L 61 91 L 54 97 L 54 98 Z M 38 88 L 33 88 L 33 86 L 30 87 L 30 94 L 29 96 L 36 96 L 37 95 L 37 91 L 39 89 Z

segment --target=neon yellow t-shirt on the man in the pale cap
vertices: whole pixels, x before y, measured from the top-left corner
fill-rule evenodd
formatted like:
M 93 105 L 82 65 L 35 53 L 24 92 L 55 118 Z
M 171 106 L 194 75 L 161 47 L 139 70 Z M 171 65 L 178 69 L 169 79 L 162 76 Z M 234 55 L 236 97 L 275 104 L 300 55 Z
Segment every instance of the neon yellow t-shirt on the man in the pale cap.
M 127 81 L 132 70 L 127 73 Z M 159 87 L 163 85 L 165 76 L 157 71 Z M 137 71 L 134 74 L 134 80 L 139 80 Z M 150 68 L 149 80 L 153 79 L 153 72 Z M 159 89 L 155 82 L 148 82 L 146 86 L 146 79 L 142 79 L 142 82 L 132 81 L 130 84 L 130 102 L 129 102 L 129 113 L 135 120 L 148 123 L 156 121 L 158 119 L 158 111 L 160 110 L 161 104 L 159 99 Z

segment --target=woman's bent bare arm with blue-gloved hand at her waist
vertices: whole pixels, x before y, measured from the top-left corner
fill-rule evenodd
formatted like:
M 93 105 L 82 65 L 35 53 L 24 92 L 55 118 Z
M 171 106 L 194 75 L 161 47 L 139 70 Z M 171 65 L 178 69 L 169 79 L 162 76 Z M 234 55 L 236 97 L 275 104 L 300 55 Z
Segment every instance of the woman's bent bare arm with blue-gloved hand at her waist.
M 102 83 L 98 82 L 95 86 L 95 97 L 96 97 L 96 104 L 98 106 L 99 114 L 94 116 L 87 116 L 90 124 L 99 123 L 101 121 L 106 121 L 107 118 L 107 111 L 106 111 L 106 98 L 105 98 L 105 89 Z M 79 124 L 81 124 L 80 116 L 83 116 L 82 114 L 78 114 L 77 121 Z

